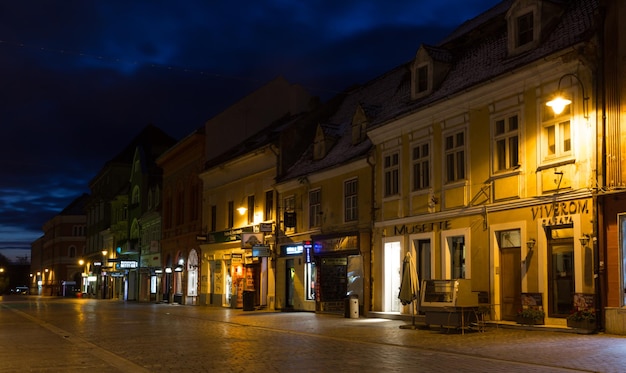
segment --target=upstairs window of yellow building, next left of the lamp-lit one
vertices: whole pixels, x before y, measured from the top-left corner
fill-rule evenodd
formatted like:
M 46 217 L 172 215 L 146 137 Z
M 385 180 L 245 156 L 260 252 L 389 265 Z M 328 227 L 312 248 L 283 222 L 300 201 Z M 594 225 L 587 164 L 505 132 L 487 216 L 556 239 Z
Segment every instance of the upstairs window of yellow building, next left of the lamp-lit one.
M 509 115 L 494 122 L 494 172 L 508 170 L 519 164 L 518 116 Z

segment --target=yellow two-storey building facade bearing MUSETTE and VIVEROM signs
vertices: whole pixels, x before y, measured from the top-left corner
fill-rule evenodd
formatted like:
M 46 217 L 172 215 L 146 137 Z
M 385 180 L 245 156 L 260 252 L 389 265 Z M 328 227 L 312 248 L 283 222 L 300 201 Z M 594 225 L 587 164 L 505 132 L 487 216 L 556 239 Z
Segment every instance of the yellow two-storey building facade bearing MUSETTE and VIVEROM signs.
M 504 14 L 509 24 L 528 14 L 522 3 Z M 561 11 L 531 14 L 578 12 Z M 406 252 L 420 280 L 470 279 L 495 320 L 514 321 L 527 299 L 554 325 L 566 325 L 581 302 L 593 306 L 593 43 L 532 59 L 528 50 L 541 45 L 533 40 L 523 51 L 514 42 L 477 42 L 471 48 L 483 50 L 481 62 L 470 47 L 446 59 L 422 46 L 409 64 L 410 103 L 368 131 L 376 147 L 372 310 L 410 313 L 398 299 Z M 447 73 L 437 75 L 437 66 Z M 560 114 L 547 106 L 557 91 L 571 101 Z

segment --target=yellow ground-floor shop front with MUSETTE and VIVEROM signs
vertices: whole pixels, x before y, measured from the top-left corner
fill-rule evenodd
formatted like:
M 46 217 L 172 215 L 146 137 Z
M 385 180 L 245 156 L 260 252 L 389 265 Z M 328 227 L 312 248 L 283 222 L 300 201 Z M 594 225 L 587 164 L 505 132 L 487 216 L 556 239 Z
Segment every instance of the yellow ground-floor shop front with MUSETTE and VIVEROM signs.
M 566 194 L 404 219 L 377 229 L 382 258 L 375 310 L 408 313 L 398 299 L 410 251 L 420 281 L 468 279 L 492 320 L 515 321 L 532 299 L 546 323 L 566 325 L 580 299 L 594 298 L 591 198 Z M 376 255 L 375 254 L 375 255 Z M 524 297 L 531 294 L 532 296 Z

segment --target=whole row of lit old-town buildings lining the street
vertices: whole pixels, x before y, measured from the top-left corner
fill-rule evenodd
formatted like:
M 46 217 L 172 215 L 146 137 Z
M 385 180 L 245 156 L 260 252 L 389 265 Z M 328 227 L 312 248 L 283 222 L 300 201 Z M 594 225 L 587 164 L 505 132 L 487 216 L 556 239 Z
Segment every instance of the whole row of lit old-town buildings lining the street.
M 150 126 L 83 212 L 44 225 L 32 286 L 316 312 L 355 295 L 364 315 L 408 314 L 410 252 L 421 279 L 470 279 L 494 320 L 532 294 L 547 324 L 584 300 L 625 334 L 621 15 L 504 0 L 327 102 L 278 78 L 178 142 Z

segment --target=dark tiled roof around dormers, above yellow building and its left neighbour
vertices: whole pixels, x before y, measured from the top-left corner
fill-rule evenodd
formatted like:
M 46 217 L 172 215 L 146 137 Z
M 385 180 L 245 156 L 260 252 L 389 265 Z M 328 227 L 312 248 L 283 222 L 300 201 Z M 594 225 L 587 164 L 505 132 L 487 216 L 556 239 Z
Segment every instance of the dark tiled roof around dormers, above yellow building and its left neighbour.
M 593 24 L 594 13 L 599 6 L 598 0 L 573 0 L 571 2 L 552 0 L 565 7 L 565 12 L 558 24 L 547 37 L 544 37 L 537 48 L 510 57 L 507 53 L 508 36 L 504 17 L 513 2 L 514 0 L 504 0 L 474 19 L 463 23 L 438 46 L 424 46 L 433 59 L 451 64 L 451 69 L 441 86 L 431 95 L 411 100 L 409 66 L 412 61 L 346 93 L 347 97 L 342 105 L 328 119 L 329 123 L 341 126 L 343 136 L 326 157 L 320 160 L 313 160 L 312 145 L 309 146 L 302 157 L 280 177 L 279 181 L 340 166 L 366 156 L 372 146 L 369 140 L 357 145 L 352 144 L 352 116 L 357 105 L 360 104 L 368 115 L 370 128 L 382 126 L 390 120 L 418 111 L 420 108 L 430 106 L 451 95 L 586 40 Z M 476 33 L 475 31 L 479 28 L 483 32 Z M 376 110 L 370 110 L 371 108 L 376 108 Z

